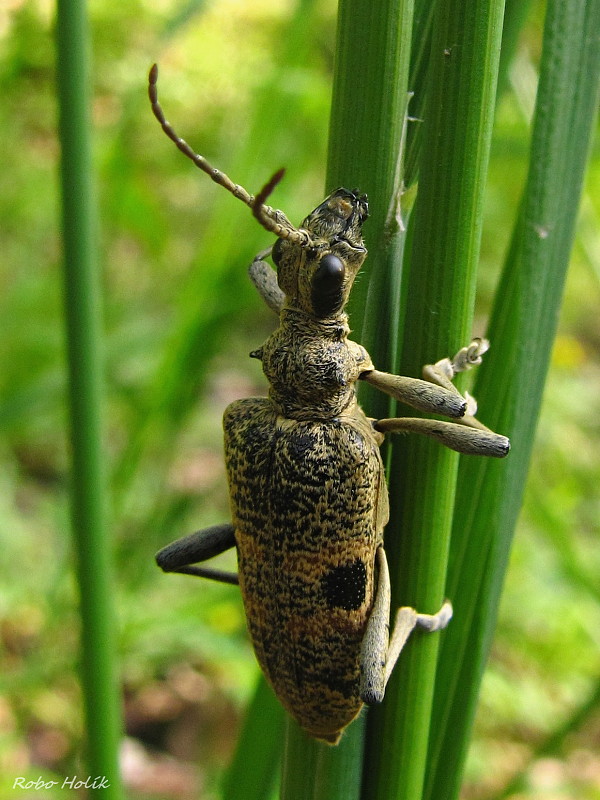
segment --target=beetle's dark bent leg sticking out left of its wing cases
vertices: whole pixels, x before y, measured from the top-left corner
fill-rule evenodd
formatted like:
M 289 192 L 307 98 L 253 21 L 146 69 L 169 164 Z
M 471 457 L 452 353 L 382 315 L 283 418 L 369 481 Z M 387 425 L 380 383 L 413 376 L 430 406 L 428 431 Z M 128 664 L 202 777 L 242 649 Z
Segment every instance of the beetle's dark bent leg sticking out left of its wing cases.
M 197 575 L 199 578 L 237 585 L 238 576 L 234 572 L 193 566 L 198 561 L 207 561 L 234 546 L 233 525 L 213 525 L 163 547 L 156 554 L 156 563 L 163 572 L 181 572 L 184 575 Z

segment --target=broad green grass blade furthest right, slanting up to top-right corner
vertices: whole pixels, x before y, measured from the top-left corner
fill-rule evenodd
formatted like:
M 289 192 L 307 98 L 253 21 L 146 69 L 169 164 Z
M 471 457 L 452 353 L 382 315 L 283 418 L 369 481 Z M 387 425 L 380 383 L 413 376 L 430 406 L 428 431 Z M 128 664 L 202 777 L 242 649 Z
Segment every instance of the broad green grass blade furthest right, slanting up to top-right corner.
M 462 763 L 521 505 L 597 109 L 600 2 L 548 3 L 530 168 L 490 323 L 476 396 L 511 436 L 505 464 L 464 459 L 448 593 L 457 621 L 444 640 L 427 797 L 458 795 Z M 465 571 L 473 572 L 465 583 Z

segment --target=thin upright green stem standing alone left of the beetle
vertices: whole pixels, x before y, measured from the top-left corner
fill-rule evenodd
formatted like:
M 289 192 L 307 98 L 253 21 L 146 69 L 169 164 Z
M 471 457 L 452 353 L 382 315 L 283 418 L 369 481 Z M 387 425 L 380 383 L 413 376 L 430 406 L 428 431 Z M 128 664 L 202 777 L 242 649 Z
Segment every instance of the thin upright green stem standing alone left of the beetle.
M 96 209 L 89 119 L 89 36 L 85 3 L 57 7 L 58 96 L 65 311 L 72 426 L 72 519 L 81 609 L 88 772 L 106 776 L 103 797 L 122 796 L 121 733 L 101 448 L 102 357 Z

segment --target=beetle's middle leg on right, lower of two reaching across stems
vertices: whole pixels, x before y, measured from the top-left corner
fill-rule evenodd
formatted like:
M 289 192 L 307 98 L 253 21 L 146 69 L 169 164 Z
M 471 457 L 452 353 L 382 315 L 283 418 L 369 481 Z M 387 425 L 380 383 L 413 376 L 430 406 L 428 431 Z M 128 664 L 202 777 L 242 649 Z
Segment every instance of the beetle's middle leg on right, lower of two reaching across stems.
M 463 418 L 460 422 L 395 417 L 376 420 L 373 427 L 381 433 L 422 433 L 437 439 L 451 450 L 467 455 L 504 458 L 510 450 L 506 436 L 493 433 L 474 417 Z

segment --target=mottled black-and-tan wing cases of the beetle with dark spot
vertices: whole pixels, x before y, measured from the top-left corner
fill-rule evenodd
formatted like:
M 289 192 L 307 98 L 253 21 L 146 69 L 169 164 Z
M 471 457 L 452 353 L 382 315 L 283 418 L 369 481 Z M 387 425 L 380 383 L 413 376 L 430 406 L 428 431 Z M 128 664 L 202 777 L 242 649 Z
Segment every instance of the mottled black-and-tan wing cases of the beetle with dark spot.
M 330 421 L 233 403 L 225 458 L 240 588 L 258 661 L 287 710 L 335 742 L 356 716 L 387 489 L 358 407 Z M 261 498 L 261 502 L 257 502 Z

